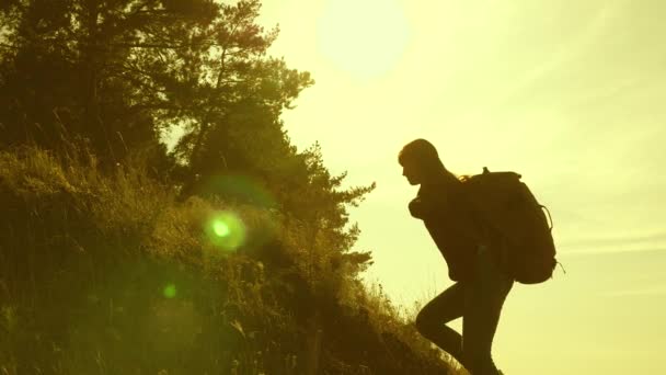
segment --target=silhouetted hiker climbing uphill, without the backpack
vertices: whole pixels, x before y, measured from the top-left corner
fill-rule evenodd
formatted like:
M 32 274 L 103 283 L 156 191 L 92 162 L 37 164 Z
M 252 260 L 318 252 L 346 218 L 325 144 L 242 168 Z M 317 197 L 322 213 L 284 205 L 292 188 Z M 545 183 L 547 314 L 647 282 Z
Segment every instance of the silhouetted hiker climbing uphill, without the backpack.
M 421 185 L 410 213 L 423 219 L 456 282 L 423 307 L 416 329 L 473 375 L 500 374 L 491 349 L 514 280 L 498 266 L 494 241 L 487 240 L 462 195 L 462 183 L 444 167 L 435 147 L 416 139 L 403 147 L 398 161 L 410 184 Z M 460 317 L 462 334 L 446 326 Z

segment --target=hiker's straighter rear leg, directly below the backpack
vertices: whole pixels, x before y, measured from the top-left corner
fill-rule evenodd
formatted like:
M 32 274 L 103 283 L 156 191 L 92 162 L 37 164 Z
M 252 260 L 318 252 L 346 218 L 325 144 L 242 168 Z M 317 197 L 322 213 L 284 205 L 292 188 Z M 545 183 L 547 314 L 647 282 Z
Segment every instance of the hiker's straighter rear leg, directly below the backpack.
M 493 363 L 493 338 L 500 321 L 502 306 L 514 281 L 494 262 L 486 248 L 480 247 L 476 274 L 466 289 L 462 321 L 462 356 L 473 375 L 496 375 Z

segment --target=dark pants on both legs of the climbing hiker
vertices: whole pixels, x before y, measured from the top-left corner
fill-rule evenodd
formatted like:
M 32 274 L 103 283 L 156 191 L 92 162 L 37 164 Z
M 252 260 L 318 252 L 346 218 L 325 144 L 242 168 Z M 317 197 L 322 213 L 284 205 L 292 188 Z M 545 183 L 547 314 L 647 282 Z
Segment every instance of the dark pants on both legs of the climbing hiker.
M 416 329 L 473 375 L 496 375 L 493 337 L 513 285 L 486 248 L 479 247 L 475 277 L 453 284 L 425 305 L 416 317 Z M 445 325 L 460 317 L 462 336 Z

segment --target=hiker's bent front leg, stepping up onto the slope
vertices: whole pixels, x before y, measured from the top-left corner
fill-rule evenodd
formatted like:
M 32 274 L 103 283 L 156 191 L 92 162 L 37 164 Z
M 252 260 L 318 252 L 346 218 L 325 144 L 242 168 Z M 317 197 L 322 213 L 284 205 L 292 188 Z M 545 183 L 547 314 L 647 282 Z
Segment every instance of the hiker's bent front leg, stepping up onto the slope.
M 462 363 L 462 337 L 446 323 L 462 317 L 464 286 L 451 285 L 425 305 L 416 316 L 416 329 L 445 352 Z

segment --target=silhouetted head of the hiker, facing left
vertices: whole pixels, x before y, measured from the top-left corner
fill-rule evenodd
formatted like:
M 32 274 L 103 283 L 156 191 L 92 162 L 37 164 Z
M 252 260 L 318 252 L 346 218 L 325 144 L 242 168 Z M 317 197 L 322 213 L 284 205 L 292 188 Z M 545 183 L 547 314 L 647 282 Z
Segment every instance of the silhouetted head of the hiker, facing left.
M 435 146 L 422 138 L 406 144 L 398 154 L 398 162 L 402 166 L 402 175 L 412 185 L 427 182 L 444 170 Z

